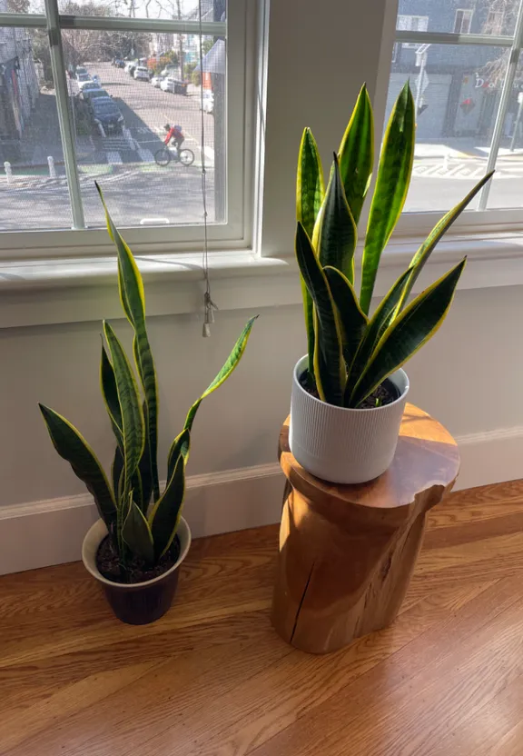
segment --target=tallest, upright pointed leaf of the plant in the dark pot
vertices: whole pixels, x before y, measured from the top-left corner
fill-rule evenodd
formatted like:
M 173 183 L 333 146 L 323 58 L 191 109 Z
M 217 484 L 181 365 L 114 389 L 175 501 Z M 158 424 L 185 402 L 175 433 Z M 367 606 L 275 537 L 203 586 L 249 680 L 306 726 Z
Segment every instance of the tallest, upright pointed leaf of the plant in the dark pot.
M 123 241 L 113 219 L 107 210 L 104 194 L 96 184 L 98 194 L 104 205 L 107 231 L 116 246 L 118 254 L 118 285 L 123 311 L 129 323 L 133 326 L 135 344 L 133 355 L 136 362 L 140 382 L 143 386 L 147 412 L 145 413 L 146 433 L 149 446 L 149 463 L 153 480 L 153 497 L 157 501 L 160 496 L 158 479 L 158 386 L 154 368 L 153 353 L 145 327 L 145 295 L 143 293 L 143 279 L 136 265 L 133 253 Z

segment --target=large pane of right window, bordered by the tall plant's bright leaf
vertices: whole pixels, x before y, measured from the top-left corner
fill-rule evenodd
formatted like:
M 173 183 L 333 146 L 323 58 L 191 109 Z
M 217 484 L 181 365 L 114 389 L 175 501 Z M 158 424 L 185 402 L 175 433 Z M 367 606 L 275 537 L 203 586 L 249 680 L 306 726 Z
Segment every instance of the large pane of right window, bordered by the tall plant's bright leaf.
M 508 50 L 477 45 L 414 47 L 396 49 L 387 99 L 389 117 L 401 87 L 410 79 L 418 119 L 405 209 L 449 210 L 486 171 Z M 513 99 L 517 103 L 516 89 Z M 470 209 L 476 204 L 474 200 Z

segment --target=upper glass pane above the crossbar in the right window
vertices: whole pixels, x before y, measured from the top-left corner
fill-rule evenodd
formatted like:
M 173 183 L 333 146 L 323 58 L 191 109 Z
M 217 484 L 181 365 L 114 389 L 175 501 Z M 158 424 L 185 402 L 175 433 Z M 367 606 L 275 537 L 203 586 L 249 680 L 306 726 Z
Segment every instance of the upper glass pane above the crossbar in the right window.
M 519 0 L 400 0 L 396 27 L 404 31 L 513 35 Z

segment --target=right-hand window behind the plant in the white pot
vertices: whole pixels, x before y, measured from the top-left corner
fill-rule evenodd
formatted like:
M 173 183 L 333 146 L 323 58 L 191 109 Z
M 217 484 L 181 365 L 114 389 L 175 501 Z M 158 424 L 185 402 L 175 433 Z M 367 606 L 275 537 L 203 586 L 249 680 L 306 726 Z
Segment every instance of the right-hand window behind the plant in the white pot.
M 469 207 L 481 211 L 485 223 L 521 223 L 523 24 L 516 22 L 523 13 L 522 0 L 505 0 L 502 16 L 497 4 L 479 0 L 474 12 L 479 31 L 474 35 L 472 11 L 456 9 L 455 0 L 400 0 L 400 14 L 406 5 L 411 11 L 419 6 L 430 20 L 430 31 L 414 32 L 400 23 L 405 16 L 398 16 L 395 44 L 410 46 L 395 57 L 390 71 L 387 117 L 408 79 L 417 110 L 407 214 L 449 210 L 482 175 L 496 169 Z M 504 36 L 499 35 L 501 18 Z M 421 223 L 421 215 L 417 217 Z M 479 216 L 464 214 L 459 223 L 478 224 Z M 404 224 L 416 227 L 418 221 L 412 215 Z

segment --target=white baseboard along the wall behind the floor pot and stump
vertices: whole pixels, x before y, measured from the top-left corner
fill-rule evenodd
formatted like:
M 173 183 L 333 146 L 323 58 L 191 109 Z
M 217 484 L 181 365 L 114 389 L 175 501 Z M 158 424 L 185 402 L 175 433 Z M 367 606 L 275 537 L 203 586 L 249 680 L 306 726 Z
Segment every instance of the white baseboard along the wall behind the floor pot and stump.
M 470 433 L 457 441 L 458 489 L 523 478 L 523 427 Z M 183 514 L 195 538 L 268 525 L 280 520 L 282 491 L 278 463 L 193 475 Z M 74 562 L 95 519 L 87 493 L 0 507 L 0 574 Z

